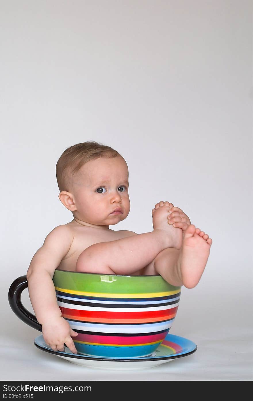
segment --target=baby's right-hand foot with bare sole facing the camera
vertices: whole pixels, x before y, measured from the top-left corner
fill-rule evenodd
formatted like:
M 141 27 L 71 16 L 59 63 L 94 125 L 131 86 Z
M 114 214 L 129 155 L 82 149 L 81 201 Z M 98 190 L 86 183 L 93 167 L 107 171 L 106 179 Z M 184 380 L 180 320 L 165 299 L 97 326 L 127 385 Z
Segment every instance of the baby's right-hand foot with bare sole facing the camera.
M 207 234 L 195 225 L 189 225 L 177 261 L 178 273 L 185 287 L 193 288 L 198 284 L 209 257 L 211 244 L 212 240 Z

